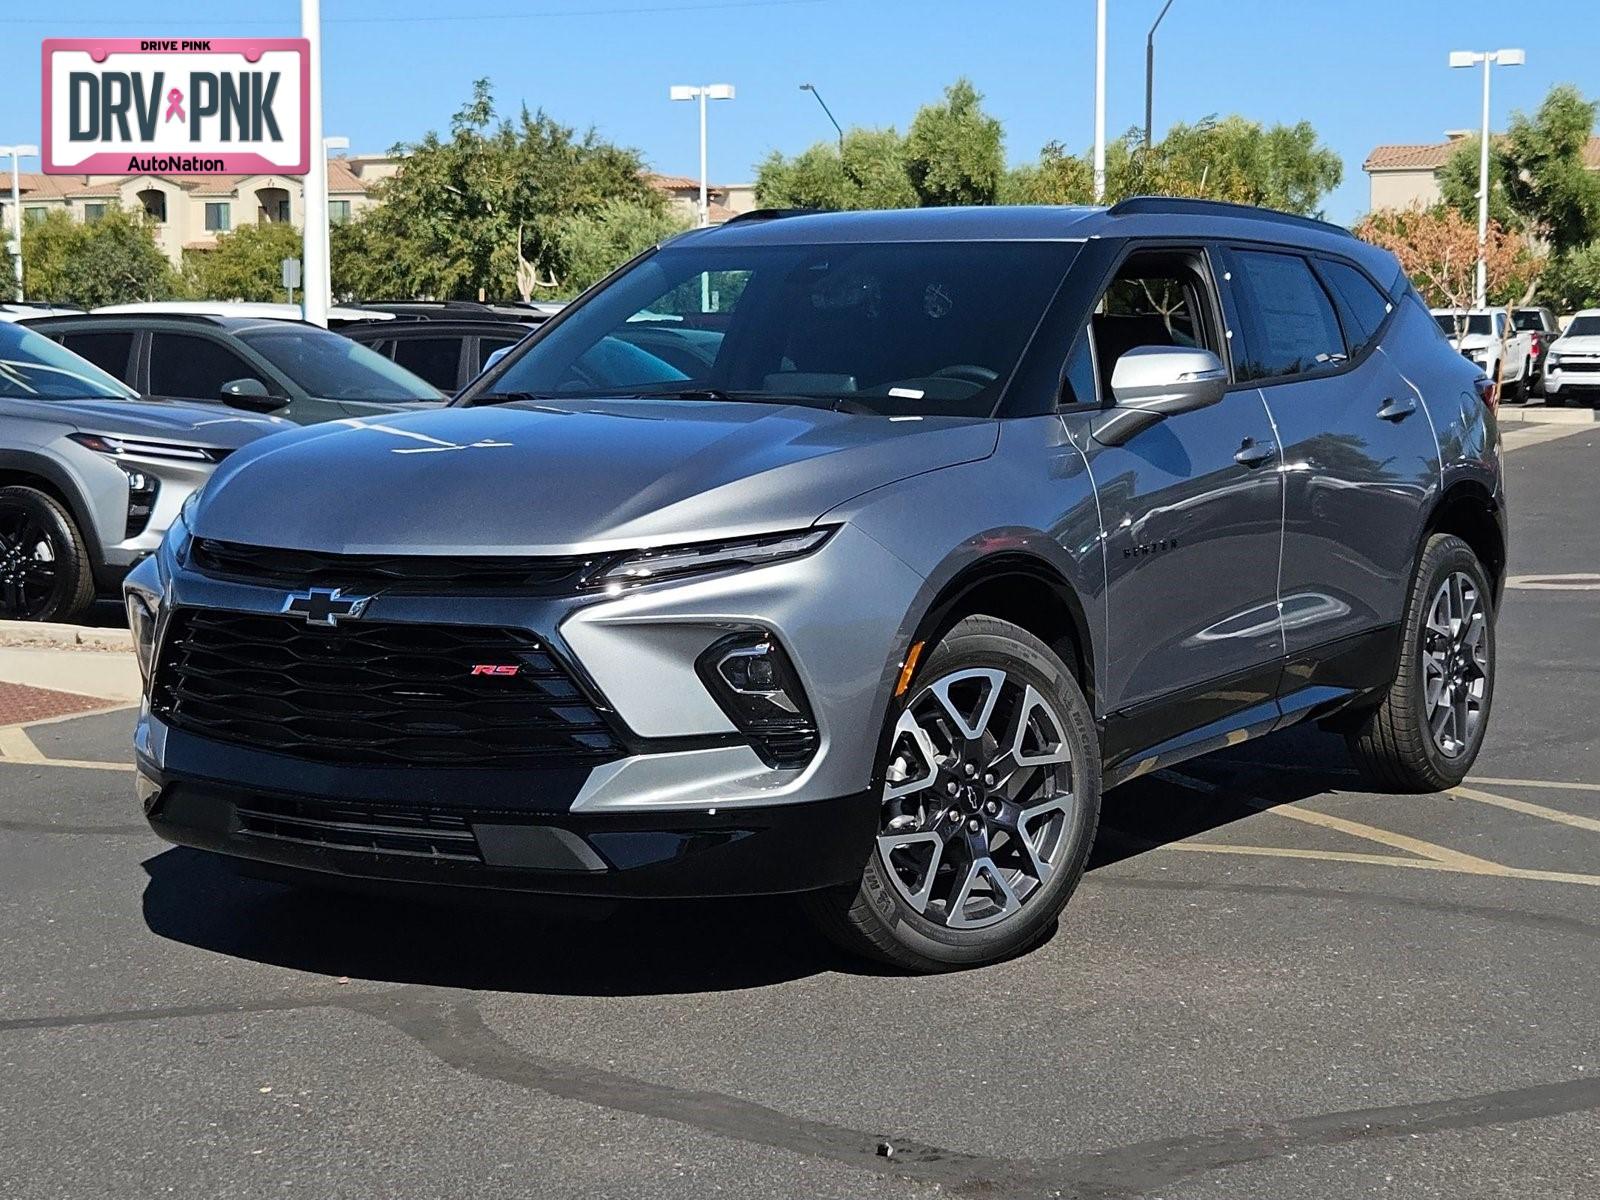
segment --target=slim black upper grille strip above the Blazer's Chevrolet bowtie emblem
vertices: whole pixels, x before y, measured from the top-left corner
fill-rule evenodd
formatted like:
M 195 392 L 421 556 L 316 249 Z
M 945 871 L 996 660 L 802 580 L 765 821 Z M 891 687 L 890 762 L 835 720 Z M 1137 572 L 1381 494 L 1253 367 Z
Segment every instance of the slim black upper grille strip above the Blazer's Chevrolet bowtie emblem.
M 197 538 L 190 560 L 205 574 L 237 582 L 469 595 L 562 595 L 578 587 L 578 576 L 589 563 L 579 557 L 325 554 L 214 538 Z

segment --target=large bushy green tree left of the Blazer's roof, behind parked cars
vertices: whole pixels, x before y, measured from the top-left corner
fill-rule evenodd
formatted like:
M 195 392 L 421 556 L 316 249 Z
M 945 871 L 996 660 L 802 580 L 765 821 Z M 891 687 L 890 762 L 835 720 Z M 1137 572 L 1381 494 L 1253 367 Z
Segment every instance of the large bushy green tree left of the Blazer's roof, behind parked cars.
M 378 189 L 381 205 L 334 248 L 341 291 L 438 299 L 531 298 L 560 290 L 566 222 L 613 200 L 662 211 L 634 150 L 582 136 L 544 112 L 496 120 L 488 80 L 454 115 L 450 136 L 429 133 Z

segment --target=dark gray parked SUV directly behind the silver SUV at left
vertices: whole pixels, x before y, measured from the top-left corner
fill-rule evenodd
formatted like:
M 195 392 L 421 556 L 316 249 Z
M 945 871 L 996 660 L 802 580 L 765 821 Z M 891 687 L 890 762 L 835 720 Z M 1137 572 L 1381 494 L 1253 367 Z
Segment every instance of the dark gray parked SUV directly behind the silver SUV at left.
M 296 424 L 438 405 L 437 387 L 302 322 L 189 314 L 30 320 L 142 395 L 274 413 Z

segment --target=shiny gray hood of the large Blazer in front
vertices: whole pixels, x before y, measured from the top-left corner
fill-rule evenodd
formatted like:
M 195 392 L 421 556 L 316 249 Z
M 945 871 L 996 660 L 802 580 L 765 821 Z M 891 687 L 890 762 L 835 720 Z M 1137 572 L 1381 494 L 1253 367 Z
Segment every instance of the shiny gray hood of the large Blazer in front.
M 312 426 L 234 454 L 194 531 L 331 554 L 574 554 L 803 528 L 994 453 L 998 422 L 582 400 Z

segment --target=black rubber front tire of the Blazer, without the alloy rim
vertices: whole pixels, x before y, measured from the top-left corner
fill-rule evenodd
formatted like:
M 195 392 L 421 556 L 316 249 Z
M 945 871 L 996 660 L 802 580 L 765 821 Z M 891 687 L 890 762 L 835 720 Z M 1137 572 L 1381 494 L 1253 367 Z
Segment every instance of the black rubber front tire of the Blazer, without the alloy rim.
M 1062 733 L 1072 742 L 1072 789 L 1082 811 L 1075 829 L 1077 845 L 1070 846 L 1050 882 L 1027 899 L 1016 917 L 979 930 L 950 930 L 912 909 L 888 877 L 874 840 L 862 872 L 861 896 L 896 942 L 910 954 L 941 965 L 986 963 L 1037 944 L 1077 888 L 1099 821 L 1099 736 L 1083 691 L 1042 642 L 992 618 L 968 618 L 952 627 L 923 661 L 906 699 L 890 707 L 874 771 L 874 798 L 878 800 L 883 794 L 894 725 L 910 699 L 922 691 L 923 682 L 971 667 L 1002 667 L 1032 683 L 1056 706 L 1066 726 Z

